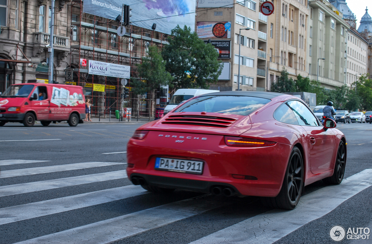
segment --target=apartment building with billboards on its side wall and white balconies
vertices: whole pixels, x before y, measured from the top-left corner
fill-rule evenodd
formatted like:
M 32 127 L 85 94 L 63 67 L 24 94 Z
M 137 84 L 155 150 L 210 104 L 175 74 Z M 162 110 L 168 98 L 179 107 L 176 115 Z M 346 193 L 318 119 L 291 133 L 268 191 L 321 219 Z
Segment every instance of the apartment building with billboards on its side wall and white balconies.
M 227 5 L 229 2 L 231 5 Z M 239 82 L 240 90 L 264 91 L 266 89 L 267 17 L 259 12 L 261 3 L 253 0 L 241 2 L 238 0 L 236 3 L 227 1 L 211 3 L 210 6 L 208 4 L 209 1 L 199 1 L 198 10 L 206 11 L 198 13 L 197 33 L 206 42 L 208 39 L 212 40 L 212 45 L 219 49 L 220 59 L 224 63 L 223 74 L 210 89 L 237 90 Z M 211 7 L 218 8 L 207 10 Z M 227 33 L 223 32 L 223 35 L 219 36 L 214 30 L 221 24 L 224 24 Z M 206 29 L 209 27 L 211 29 L 208 34 Z M 225 47 L 222 51 L 218 43 L 230 44 L 230 49 Z M 227 55 L 229 51 L 230 55 Z M 221 55 L 221 52 L 225 52 L 226 55 Z

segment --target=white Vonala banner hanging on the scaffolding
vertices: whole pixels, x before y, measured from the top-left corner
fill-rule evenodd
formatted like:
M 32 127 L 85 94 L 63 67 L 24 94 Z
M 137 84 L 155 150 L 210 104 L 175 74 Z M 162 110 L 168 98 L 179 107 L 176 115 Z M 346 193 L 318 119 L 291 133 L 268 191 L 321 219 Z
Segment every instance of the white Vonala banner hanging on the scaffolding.
M 129 79 L 131 76 L 131 66 L 89 60 L 88 73 L 91 75 L 103 75 Z

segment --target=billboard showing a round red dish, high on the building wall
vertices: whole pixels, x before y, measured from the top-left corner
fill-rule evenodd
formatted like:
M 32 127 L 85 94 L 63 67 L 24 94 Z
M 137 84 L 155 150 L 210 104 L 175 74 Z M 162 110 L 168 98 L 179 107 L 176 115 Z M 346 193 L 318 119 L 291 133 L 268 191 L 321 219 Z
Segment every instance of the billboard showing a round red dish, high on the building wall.
M 198 22 L 196 33 L 199 38 L 231 38 L 231 22 Z

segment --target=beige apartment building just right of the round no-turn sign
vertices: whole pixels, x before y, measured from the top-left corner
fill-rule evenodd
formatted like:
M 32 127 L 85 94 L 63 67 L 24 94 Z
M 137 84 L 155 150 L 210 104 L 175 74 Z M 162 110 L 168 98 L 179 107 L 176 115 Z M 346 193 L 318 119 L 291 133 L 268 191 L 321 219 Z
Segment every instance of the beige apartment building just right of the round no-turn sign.
M 275 10 L 268 18 L 267 90 L 276 82 L 282 69 L 292 79 L 307 76 L 308 1 L 272 0 Z

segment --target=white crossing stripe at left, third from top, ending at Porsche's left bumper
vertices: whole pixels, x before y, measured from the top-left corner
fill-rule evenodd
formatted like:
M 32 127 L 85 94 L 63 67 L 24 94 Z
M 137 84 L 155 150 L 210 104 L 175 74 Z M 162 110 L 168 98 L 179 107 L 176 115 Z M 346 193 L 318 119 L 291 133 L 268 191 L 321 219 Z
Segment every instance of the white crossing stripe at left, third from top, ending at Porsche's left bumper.
M 122 178 L 128 178 L 126 175 L 126 170 L 118 170 L 92 175 L 81 175 L 61 179 L 51 179 L 48 181 L 36 181 L 16 185 L 6 185 L 0 187 L 0 197 Z

